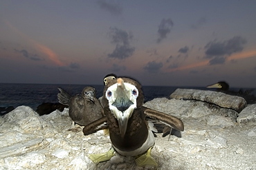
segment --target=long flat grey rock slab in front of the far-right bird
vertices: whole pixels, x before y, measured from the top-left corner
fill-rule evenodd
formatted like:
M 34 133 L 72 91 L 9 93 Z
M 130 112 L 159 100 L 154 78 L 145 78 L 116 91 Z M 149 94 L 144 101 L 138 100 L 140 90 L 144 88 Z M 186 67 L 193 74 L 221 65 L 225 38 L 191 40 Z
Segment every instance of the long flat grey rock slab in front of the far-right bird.
M 231 96 L 221 92 L 212 92 L 199 89 L 176 89 L 170 98 L 183 100 L 200 100 L 240 112 L 246 107 L 246 100 L 239 96 Z

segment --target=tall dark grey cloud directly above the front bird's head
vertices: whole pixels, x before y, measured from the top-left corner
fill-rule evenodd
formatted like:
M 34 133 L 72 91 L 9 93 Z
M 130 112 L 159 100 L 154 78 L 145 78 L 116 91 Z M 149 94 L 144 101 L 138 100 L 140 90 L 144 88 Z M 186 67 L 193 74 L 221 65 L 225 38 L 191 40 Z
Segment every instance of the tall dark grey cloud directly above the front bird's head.
M 118 28 L 110 29 L 111 43 L 116 44 L 116 48 L 108 56 L 114 59 L 126 59 L 132 56 L 135 51 L 135 47 L 131 47 L 130 45 L 133 35 Z

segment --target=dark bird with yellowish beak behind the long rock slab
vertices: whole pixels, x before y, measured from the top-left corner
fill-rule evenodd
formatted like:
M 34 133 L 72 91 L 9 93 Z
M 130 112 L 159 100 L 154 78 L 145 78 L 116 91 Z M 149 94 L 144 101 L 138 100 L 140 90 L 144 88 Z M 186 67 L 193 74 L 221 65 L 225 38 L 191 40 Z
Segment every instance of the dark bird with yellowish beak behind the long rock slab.
M 252 90 L 246 90 L 245 92 L 242 89 L 239 89 L 238 92 L 232 91 L 229 89 L 228 83 L 226 81 L 219 81 L 213 85 L 208 85 L 206 88 L 216 88 L 217 91 L 223 92 L 225 94 L 233 95 L 233 96 L 240 96 L 246 99 L 247 104 L 254 104 L 256 103 L 256 97 L 253 94 L 250 94 Z

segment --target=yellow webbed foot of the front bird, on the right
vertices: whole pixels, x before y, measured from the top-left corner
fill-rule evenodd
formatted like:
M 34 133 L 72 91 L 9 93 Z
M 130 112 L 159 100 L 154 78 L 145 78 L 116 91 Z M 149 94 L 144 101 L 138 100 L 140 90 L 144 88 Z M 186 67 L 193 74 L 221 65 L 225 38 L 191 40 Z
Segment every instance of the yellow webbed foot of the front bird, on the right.
M 135 162 L 138 166 L 145 167 L 146 165 L 153 165 L 154 167 L 157 167 L 156 160 L 154 160 L 154 158 L 151 156 L 151 149 L 152 147 L 147 150 L 147 153 L 143 154 L 139 158 L 136 158 Z

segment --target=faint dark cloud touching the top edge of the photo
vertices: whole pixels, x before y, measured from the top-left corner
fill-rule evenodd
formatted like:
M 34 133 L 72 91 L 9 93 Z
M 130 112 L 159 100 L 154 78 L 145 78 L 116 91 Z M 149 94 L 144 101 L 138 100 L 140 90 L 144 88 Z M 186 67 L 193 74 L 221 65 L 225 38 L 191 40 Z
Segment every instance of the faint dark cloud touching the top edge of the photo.
M 110 3 L 107 1 L 97 1 L 97 3 L 102 10 L 106 10 L 107 12 L 110 12 L 113 15 L 122 14 L 122 8 L 116 3 Z

